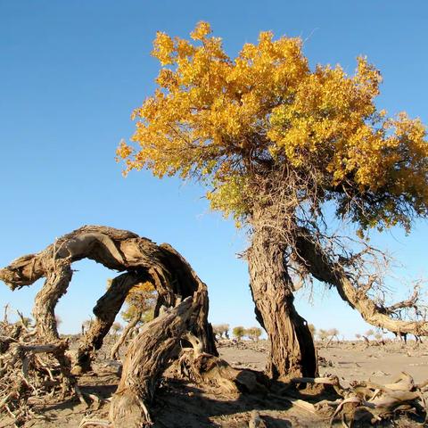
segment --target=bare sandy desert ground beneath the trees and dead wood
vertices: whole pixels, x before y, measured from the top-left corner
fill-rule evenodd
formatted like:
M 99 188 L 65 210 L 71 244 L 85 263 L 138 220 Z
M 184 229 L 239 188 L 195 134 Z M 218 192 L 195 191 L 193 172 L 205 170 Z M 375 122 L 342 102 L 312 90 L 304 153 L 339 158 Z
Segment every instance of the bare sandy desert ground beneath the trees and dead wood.
M 70 349 L 77 344 L 78 336 L 70 336 Z M 119 382 L 120 364 L 111 360 L 111 344 L 114 339 L 106 338 L 94 364 L 94 371 L 79 377 L 78 384 L 86 394 L 100 400 L 85 407 L 78 399 L 58 401 L 52 398 L 48 405 L 35 406 L 36 416 L 24 424 L 25 427 L 78 427 L 108 426 L 109 398 Z M 218 343 L 218 351 L 231 366 L 262 371 L 268 352 L 268 342 L 227 341 Z M 342 386 L 351 381 L 390 383 L 400 372 L 410 374 L 416 383 L 428 379 L 428 344 L 418 342 L 391 341 L 385 344 L 371 342 L 331 342 L 328 347 L 317 343 L 319 374 L 336 374 Z M 126 352 L 126 350 L 123 350 Z M 283 393 L 286 391 L 285 393 Z M 285 398 L 284 398 L 285 397 Z M 291 402 L 295 397 L 297 401 Z M 219 395 L 215 387 L 204 387 L 190 381 L 173 379 L 167 371 L 161 381 L 151 410 L 155 427 L 327 427 L 330 417 L 314 414 L 300 406 L 299 399 L 309 402 L 319 400 L 316 395 L 305 396 L 305 391 L 295 395 L 286 385 L 277 394 Z M 258 419 L 259 423 L 254 424 Z M 93 423 L 85 421 L 93 421 Z M 98 422 L 96 422 L 98 421 Z M 252 421 L 252 422 L 251 422 Z M 339 419 L 333 426 L 344 426 Z M 360 422 L 354 426 L 368 426 Z M 4 418 L 0 427 L 13 426 L 12 419 Z M 426 426 L 424 421 L 400 416 L 394 422 L 383 421 L 378 426 Z

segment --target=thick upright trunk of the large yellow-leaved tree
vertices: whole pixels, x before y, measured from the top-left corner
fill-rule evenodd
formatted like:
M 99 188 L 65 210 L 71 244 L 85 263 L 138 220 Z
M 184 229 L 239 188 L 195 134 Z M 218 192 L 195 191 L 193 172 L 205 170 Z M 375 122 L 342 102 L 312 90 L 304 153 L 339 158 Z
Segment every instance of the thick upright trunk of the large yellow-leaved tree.
M 267 226 L 255 226 L 247 254 L 256 317 L 271 343 L 267 374 L 283 380 L 316 376 L 313 338 L 293 305 L 292 280 L 284 265 L 280 237 Z

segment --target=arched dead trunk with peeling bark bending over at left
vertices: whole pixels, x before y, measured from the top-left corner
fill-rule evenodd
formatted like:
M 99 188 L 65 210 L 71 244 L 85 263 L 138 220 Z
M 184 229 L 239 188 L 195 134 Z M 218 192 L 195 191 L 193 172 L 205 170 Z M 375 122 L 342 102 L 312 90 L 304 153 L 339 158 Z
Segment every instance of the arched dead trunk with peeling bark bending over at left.
M 54 322 L 54 308 L 70 283 L 70 265 L 79 259 L 93 259 L 106 268 L 126 271 L 118 276 L 103 298 L 95 306 L 95 322 L 78 350 L 78 369 L 87 370 L 94 350 L 101 347 L 103 337 L 130 288 L 149 279 L 165 306 L 174 307 L 177 301 L 202 294 L 200 310 L 193 313 L 192 333 L 202 342 L 206 352 L 217 355 L 212 329 L 208 323 L 207 287 L 190 268 L 185 259 L 169 244 L 157 245 L 149 239 L 125 230 L 107 226 L 83 226 L 63 235 L 55 243 L 37 254 L 16 259 L 0 269 L 0 279 L 12 290 L 33 284 L 42 276 L 46 282 L 37 294 L 34 316 L 41 341 L 58 339 Z

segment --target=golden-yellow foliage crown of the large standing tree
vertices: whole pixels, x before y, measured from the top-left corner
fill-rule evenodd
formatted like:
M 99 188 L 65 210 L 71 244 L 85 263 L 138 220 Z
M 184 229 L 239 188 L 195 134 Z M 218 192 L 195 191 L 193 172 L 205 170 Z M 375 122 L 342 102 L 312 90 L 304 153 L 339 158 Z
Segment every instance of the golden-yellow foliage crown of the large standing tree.
M 235 218 L 251 215 L 254 179 L 284 167 L 302 179 L 310 171 L 317 203 L 333 200 L 363 228 L 408 229 L 427 214 L 426 129 L 376 109 L 382 78 L 366 58 L 353 76 L 339 65 L 310 70 L 300 38 L 262 32 L 231 59 L 210 34 L 207 22 L 194 42 L 158 32 L 158 88 L 133 113 L 136 147 L 117 152 L 126 172 L 199 177 L 211 207 Z

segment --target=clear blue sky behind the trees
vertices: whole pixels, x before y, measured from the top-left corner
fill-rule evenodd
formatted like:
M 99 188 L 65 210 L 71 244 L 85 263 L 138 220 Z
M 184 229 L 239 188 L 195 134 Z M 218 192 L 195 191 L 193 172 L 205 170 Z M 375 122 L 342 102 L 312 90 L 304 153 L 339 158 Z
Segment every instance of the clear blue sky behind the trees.
M 306 40 L 311 64 L 340 62 L 351 73 L 366 54 L 383 72 L 379 106 L 428 123 L 425 0 L 0 0 L 0 266 L 84 224 L 125 228 L 182 252 L 209 285 L 213 323 L 255 324 L 247 268 L 235 256 L 245 237 L 210 213 L 202 188 L 148 172 L 125 179 L 114 161 L 133 132 L 131 111 L 154 88 L 155 32 L 186 37 L 202 20 L 231 55 L 267 29 Z M 393 231 L 376 242 L 417 276 L 426 274 L 427 231 L 420 223 L 409 237 Z M 57 310 L 67 333 L 113 276 L 92 262 L 75 268 Z M 12 293 L 0 284 L 0 305 L 29 314 L 40 285 Z M 368 328 L 334 291 L 318 287 L 313 298 L 297 305 L 317 327 L 348 336 Z

